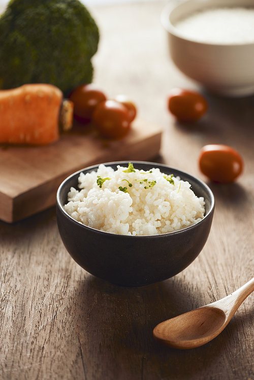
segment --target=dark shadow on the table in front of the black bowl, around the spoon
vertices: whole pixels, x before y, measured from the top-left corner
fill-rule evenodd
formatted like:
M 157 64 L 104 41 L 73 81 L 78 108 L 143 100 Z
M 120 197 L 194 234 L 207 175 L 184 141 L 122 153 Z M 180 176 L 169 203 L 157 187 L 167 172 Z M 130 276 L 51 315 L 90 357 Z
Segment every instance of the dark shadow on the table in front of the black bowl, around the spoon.
M 224 332 L 194 350 L 170 349 L 154 340 L 152 330 L 158 323 L 193 308 L 187 284 L 177 276 L 136 289 L 91 276 L 80 293 L 86 306 L 79 320 L 87 321 L 78 326 L 83 366 L 86 371 L 100 368 L 101 373 L 101 377 L 88 373 L 91 378 L 201 379 L 229 339 Z

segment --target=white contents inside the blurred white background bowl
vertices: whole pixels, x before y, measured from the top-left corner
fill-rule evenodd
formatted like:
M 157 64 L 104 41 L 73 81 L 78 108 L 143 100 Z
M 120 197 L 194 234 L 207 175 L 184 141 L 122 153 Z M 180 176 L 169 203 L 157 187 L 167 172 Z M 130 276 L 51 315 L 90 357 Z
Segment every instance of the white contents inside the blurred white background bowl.
M 194 13 L 175 25 L 189 39 L 211 44 L 254 42 L 254 8 L 214 8 Z

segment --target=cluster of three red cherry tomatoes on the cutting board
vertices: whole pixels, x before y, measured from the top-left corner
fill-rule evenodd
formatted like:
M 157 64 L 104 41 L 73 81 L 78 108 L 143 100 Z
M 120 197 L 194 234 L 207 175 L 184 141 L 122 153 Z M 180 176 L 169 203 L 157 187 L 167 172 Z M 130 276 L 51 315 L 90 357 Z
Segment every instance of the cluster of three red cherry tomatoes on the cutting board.
M 94 84 L 76 87 L 69 95 L 74 103 L 74 117 L 82 122 L 91 121 L 107 139 L 122 139 L 136 118 L 137 108 L 125 95 L 107 99 Z

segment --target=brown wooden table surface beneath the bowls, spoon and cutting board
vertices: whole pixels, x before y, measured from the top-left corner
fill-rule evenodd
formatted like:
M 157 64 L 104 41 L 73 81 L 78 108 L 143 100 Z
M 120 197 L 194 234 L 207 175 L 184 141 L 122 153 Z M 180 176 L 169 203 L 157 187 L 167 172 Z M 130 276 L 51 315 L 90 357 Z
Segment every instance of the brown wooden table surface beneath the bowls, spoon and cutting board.
M 208 183 L 216 209 L 207 244 L 174 278 L 121 288 L 81 269 L 61 243 L 55 210 L 0 222 L 0 378 L 3 380 L 253 380 L 254 295 L 205 346 L 169 349 L 152 337 L 168 318 L 222 298 L 253 277 L 254 97 L 205 94 L 209 112 L 196 125 L 175 122 L 166 108 L 173 87 L 198 88 L 170 61 L 160 23 L 165 1 L 91 10 L 101 30 L 94 82 L 110 96 L 132 97 L 140 117 L 164 129 L 154 161 L 189 171 L 200 148 L 223 143 L 245 161 L 233 185 Z

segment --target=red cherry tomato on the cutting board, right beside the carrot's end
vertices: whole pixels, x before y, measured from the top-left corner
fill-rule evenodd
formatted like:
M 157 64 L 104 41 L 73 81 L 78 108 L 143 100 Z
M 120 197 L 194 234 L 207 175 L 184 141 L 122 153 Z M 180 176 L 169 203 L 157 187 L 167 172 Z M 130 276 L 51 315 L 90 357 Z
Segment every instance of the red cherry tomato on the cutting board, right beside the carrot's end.
M 69 98 L 74 102 L 74 117 L 87 122 L 98 104 L 106 100 L 106 95 L 94 84 L 84 84 L 76 87 Z

